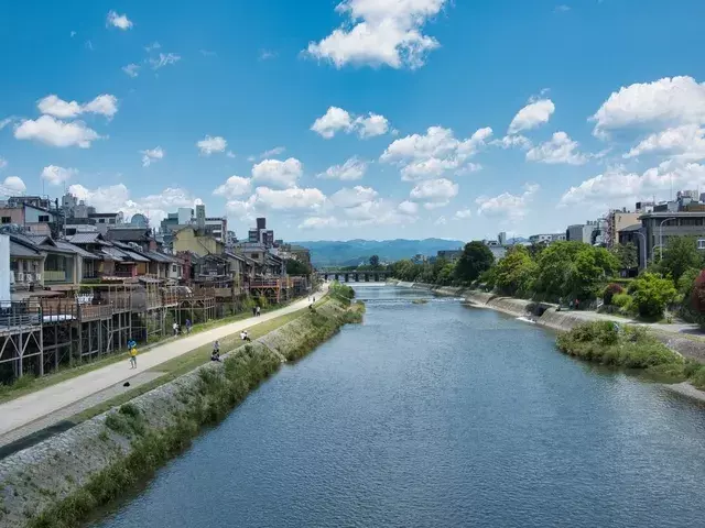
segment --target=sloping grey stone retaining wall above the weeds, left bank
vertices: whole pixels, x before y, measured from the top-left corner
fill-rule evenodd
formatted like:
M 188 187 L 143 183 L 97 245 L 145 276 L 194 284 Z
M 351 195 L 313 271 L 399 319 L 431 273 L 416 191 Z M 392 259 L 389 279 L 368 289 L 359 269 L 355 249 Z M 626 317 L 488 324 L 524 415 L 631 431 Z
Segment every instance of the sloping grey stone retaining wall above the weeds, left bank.
M 317 307 L 315 315 L 306 314 L 252 342 L 250 354 L 262 362 L 271 364 L 275 359 L 280 363 L 291 350 L 310 342 L 306 339 L 314 332 L 321 337 L 322 318 L 327 328 L 340 327 L 346 310 L 332 299 Z M 223 358 L 245 353 L 245 346 L 240 346 Z M 166 430 L 175 426 L 184 411 L 199 405 L 204 371 L 223 376 L 225 364 L 205 364 L 130 402 L 140 409 L 148 430 Z M 0 461 L 0 527 L 32 526 L 42 512 L 73 497 L 95 475 L 124 460 L 132 450 L 130 435 L 123 436 L 106 426 L 108 416 L 116 413 L 112 409 L 99 415 Z

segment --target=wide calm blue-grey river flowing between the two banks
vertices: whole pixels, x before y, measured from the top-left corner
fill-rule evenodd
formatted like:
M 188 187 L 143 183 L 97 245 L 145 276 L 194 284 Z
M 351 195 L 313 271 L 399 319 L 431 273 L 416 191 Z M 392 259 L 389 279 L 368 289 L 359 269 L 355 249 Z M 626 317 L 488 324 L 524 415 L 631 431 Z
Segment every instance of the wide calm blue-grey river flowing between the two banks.
M 364 324 L 286 365 L 94 526 L 705 526 L 702 407 L 513 318 L 356 289 Z

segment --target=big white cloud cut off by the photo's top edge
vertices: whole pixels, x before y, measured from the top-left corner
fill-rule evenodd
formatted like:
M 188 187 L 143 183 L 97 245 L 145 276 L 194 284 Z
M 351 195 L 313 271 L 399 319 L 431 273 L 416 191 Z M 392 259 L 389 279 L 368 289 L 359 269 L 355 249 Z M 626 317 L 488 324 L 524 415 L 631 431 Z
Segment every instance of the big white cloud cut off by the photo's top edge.
M 422 29 L 445 4 L 446 0 L 344 0 L 336 11 L 349 20 L 321 42 L 308 43 L 306 53 L 338 68 L 421 67 L 427 53 L 440 46 Z

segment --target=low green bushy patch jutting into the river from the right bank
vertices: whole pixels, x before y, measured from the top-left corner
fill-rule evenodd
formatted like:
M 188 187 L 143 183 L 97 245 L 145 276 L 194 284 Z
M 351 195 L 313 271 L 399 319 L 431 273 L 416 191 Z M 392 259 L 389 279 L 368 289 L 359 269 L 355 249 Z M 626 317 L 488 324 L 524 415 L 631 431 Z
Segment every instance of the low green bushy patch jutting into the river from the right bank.
M 705 365 L 670 350 L 646 329 L 594 321 L 558 336 L 558 349 L 575 358 L 603 365 L 641 370 L 664 383 L 690 382 L 705 389 Z

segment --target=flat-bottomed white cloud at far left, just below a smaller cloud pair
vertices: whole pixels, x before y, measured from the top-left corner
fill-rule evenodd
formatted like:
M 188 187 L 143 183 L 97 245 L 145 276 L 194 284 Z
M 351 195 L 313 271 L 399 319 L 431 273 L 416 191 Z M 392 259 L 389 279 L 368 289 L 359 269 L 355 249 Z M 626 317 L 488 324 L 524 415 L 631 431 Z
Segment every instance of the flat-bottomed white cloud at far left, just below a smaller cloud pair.
M 90 144 L 101 139 L 98 133 L 82 121 L 66 123 L 51 116 L 36 120 L 24 120 L 14 129 L 18 140 L 35 140 L 52 146 L 78 146 L 90 148 Z

